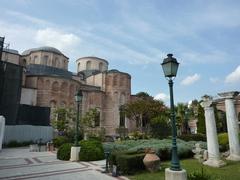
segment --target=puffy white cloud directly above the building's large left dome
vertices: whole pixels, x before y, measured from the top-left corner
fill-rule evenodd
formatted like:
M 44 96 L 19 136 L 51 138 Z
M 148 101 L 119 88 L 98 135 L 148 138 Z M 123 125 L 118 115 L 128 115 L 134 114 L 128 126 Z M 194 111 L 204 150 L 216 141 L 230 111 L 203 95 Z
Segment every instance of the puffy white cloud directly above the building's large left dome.
M 35 41 L 42 45 L 53 46 L 63 51 L 71 51 L 80 43 L 80 38 L 72 33 L 62 32 L 53 28 L 40 29 L 36 32 Z

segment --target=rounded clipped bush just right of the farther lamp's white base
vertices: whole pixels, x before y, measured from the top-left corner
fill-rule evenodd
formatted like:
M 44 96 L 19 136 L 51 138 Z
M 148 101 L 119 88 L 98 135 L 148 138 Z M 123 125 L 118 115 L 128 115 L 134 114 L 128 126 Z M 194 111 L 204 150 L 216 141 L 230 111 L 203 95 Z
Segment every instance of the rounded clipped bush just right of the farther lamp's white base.
M 81 161 L 96 161 L 104 159 L 103 146 L 100 141 L 82 140 L 80 141 L 81 150 L 79 159 Z

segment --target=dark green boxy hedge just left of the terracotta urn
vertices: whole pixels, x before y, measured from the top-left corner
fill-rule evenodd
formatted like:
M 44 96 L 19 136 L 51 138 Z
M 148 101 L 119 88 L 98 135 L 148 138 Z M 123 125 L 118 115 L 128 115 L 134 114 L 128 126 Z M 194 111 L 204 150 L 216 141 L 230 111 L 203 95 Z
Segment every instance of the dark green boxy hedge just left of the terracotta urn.
M 143 158 L 145 153 L 137 151 L 111 153 L 109 157 L 110 166 L 116 165 L 120 174 L 133 174 L 137 171 L 145 169 Z

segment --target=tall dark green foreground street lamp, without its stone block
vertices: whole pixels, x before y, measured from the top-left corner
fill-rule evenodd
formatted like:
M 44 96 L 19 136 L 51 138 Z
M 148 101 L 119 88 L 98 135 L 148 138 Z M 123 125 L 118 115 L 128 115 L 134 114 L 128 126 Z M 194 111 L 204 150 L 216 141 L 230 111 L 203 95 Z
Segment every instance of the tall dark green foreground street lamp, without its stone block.
M 165 77 L 168 79 L 169 91 L 170 91 L 170 106 L 171 106 L 171 123 L 172 123 L 172 160 L 170 169 L 173 171 L 181 171 L 180 162 L 177 155 L 177 129 L 176 129 L 176 117 L 174 111 L 173 101 L 173 78 L 177 75 L 178 65 L 177 59 L 172 57 L 172 54 L 168 54 L 168 57 L 163 60 L 162 68 Z

